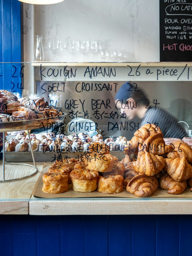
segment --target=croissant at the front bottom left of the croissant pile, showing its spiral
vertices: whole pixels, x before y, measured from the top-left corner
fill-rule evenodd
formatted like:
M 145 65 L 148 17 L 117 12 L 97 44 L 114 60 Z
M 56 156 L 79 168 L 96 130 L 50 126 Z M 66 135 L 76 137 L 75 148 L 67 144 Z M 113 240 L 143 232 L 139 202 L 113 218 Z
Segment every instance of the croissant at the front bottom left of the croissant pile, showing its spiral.
M 158 180 L 155 176 L 138 174 L 127 184 L 126 190 L 138 197 L 149 197 L 158 188 Z

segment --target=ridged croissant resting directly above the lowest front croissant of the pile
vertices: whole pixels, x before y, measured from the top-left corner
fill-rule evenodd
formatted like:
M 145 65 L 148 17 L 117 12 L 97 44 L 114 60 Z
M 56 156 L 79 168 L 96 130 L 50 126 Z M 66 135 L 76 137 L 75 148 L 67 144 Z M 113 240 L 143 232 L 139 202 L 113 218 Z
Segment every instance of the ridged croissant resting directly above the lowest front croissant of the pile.
M 137 161 L 133 162 L 133 169 L 136 172 L 153 176 L 160 172 L 165 166 L 165 160 L 162 156 L 153 155 L 145 151 L 138 154 Z

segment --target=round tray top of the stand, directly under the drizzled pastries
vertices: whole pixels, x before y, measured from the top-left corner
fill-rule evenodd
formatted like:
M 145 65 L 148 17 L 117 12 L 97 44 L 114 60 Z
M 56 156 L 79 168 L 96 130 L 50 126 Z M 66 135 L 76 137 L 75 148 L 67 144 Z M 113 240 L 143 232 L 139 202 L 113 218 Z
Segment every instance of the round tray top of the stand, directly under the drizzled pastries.
M 57 125 L 63 121 L 65 116 L 66 116 L 66 113 L 63 113 L 62 116 L 57 116 L 57 117 L 0 122 L 0 132 L 13 132 L 16 130 L 39 129 L 39 127 L 42 124 L 43 124 L 43 126 L 47 126 L 48 124 L 52 125 L 53 123 L 55 123 L 55 125 Z

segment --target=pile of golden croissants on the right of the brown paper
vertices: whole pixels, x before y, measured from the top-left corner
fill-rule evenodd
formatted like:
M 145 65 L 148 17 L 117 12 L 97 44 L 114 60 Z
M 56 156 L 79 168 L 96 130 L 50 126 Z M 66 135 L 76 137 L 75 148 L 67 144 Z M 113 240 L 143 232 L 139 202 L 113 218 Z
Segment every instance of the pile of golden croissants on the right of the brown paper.
M 181 194 L 187 183 L 192 187 L 192 148 L 180 139 L 166 145 L 154 124 L 138 129 L 124 153 L 124 186 L 135 196 L 149 197 L 158 186 L 169 194 Z M 132 153 L 138 155 L 136 161 L 131 161 Z

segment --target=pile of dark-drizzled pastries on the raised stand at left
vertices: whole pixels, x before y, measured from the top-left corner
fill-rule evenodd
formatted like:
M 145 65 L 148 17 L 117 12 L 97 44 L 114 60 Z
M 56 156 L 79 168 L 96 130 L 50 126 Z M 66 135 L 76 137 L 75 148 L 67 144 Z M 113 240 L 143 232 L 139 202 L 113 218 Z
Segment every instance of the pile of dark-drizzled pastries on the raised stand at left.
M 34 100 L 17 98 L 6 90 L 0 90 L 0 122 L 31 120 L 61 116 L 59 108 L 48 105 L 43 97 Z

